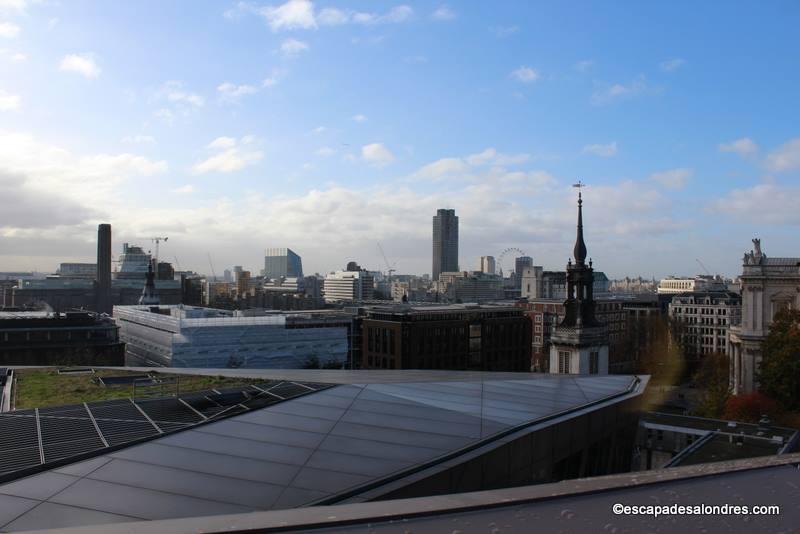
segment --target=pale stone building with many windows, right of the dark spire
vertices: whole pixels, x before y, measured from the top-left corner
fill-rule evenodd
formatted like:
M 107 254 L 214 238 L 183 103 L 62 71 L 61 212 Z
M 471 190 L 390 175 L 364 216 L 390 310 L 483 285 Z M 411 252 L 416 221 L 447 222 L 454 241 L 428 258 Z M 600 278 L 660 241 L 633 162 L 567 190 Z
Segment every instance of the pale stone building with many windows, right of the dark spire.
M 741 296 L 730 291 L 680 293 L 668 309 L 684 355 L 695 361 L 705 354 L 728 354 L 728 330 L 738 324 L 741 311 Z

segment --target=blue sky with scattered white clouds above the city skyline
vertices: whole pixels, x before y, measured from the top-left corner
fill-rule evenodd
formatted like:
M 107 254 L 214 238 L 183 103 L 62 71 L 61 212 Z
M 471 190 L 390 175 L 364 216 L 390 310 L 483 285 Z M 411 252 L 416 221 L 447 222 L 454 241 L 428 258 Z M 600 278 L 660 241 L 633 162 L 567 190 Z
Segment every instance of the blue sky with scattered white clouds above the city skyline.
M 401 0 L 402 2 L 402 0 Z M 0 0 L 0 271 L 563 269 L 800 256 L 800 3 Z M 514 253 L 502 267 L 513 267 Z M 211 262 L 209 262 L 209 257 Z

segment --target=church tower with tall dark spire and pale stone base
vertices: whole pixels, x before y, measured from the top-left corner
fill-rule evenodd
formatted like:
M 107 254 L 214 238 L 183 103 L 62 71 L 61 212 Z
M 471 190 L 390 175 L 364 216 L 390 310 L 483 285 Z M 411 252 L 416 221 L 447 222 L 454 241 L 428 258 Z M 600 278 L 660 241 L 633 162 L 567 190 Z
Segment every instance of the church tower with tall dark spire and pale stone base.
M 586 263 L 583 241 L 583 199 L 578 188 L 578 235 L 567 263 L 567 300 L 564 319 L 550 336 L 550 372 L 608 374 L 608 329 L 594 316 L 594 269 Z

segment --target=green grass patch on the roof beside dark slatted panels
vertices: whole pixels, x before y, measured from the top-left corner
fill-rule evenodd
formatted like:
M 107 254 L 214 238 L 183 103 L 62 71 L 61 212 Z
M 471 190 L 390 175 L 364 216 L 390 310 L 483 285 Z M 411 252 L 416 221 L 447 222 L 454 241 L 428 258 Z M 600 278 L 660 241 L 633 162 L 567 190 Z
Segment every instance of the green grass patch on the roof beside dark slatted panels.
M 43 369 L 18 369 L 14 371 L 16 385 L 14 388 L 14 408 L 46 408 L 48 406 L 62 406 L 65 404 L 80 404 L 112 399 L 127 399 L 133 396 L 133 386 L 126 384 L 120 386 L 103 386 L 97 382 L 102 376 L 141 375 L 141 371 L 119 371 L 113 369 L 98 369 L 94 374 L 60 375 L 53 367 Z M 221 376 L 192 376 L 175 375 L 153 371 L 156 378 L 178 378 L 178 388 L 181 393 L 212 389 L 218 387 L 233 387 L 240 385 L 264 382 L 247 378 L 228 378 Z M 160 388 L 151 386 L 141 388 L 137 386 L 137 396 L 145 392 L 147 396 L 158 395 Z M 176 391 L 174 384 L 164 385 L 164 396 L 173 395 Z

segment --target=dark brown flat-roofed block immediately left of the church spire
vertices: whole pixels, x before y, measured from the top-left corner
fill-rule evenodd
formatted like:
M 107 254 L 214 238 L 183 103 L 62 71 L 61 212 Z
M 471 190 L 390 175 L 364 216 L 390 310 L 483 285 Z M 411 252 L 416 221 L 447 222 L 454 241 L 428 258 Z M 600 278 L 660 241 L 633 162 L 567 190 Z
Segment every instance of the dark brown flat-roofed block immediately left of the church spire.
M 388 306 L 364 310 L 363 369 L 527 371 L 531 326 L 509 306 Z

